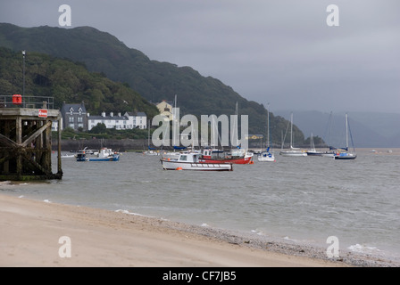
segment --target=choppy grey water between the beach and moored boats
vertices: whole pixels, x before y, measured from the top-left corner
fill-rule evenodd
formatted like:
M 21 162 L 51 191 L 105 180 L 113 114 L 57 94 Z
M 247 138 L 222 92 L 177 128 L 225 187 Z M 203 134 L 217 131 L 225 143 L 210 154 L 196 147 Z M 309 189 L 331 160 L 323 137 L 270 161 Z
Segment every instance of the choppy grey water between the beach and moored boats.
M 232 172 L 165 171 L 160 157 L 128 152 L 119 162 L 63 159 L 61 181 L 0 183 L 0 191 L 323 247 L 337 236 L 340 248 L 399 260 L 400 152 L 351 161 L 276 152 L 276 162 L 254 158 Z

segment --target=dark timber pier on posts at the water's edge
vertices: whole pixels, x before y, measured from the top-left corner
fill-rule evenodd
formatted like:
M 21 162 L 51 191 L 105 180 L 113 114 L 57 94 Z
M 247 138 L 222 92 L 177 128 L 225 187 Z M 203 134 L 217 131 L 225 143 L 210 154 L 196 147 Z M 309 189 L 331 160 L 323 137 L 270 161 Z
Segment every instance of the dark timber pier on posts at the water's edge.
M 59 110 L 0 106 L 0 181 L 62 179 L 61 119 Z M 58 122 L 55 174 L 52 172 L 54 122 Z

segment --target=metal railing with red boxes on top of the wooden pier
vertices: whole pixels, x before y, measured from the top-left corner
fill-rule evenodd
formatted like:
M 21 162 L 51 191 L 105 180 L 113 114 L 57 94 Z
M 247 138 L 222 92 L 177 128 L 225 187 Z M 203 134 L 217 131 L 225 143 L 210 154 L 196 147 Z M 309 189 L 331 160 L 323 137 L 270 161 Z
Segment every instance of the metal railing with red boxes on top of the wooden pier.
M 54 97 L 45 96 L 0 96 L 2 108 L 54 109 Z

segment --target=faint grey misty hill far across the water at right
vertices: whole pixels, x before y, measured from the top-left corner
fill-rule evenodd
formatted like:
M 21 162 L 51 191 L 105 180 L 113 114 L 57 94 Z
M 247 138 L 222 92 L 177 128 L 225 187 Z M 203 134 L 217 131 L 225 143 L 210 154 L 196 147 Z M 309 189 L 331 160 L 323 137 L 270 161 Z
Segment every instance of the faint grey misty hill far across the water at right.
M 290 118 L 290 110 L 275 111 L 276 115 Z M 345 113 L 320 111 L 294 111 L 294 123 L 305 134 L 319 135 L 330 145 L 346 145 Z M 349 126 L 354 147 L 398 148 L 400 147 L 400 114 L 381 112 L 349 112 Z

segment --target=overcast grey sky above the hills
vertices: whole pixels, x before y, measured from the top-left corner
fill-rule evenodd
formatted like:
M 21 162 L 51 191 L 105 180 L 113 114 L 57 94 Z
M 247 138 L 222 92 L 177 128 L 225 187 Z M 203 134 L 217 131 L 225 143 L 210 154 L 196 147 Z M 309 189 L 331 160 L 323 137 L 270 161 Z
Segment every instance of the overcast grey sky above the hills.
M 60 27 L 62 4 L 68 28 L 108 32 L 271 111 L 400 113 L 399 0 L 1 0 L 0 22 Z

